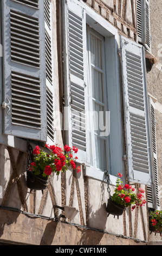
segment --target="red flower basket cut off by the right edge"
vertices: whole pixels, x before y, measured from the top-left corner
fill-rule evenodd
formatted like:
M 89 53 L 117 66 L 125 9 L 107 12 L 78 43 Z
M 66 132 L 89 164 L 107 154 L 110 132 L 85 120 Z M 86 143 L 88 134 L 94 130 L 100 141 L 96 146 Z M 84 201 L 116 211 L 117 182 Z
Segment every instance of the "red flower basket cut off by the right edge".
M 162 211 L 151 211 L 149 216 L 150 234 L 153 232 L 162 236 Z

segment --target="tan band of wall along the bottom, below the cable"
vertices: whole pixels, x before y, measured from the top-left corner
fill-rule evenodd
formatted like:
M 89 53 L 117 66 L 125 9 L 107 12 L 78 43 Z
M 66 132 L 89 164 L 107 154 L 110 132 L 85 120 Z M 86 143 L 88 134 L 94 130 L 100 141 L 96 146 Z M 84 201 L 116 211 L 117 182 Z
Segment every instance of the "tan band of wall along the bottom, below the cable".
M 0 242 L 3 245 L 8 240 L 14 244 L 21 241 L 24 245 L 146 245 L 146 242 L 83 229 L 72 224 L 29 218 L 4 210 L 1 214 Z

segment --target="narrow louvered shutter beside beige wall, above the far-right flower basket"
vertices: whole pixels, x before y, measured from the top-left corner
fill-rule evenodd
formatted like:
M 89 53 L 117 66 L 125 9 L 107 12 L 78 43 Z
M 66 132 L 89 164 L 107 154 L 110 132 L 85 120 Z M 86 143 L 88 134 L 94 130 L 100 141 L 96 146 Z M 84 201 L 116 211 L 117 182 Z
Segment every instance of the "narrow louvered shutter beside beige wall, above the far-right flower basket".
M 151 160 L 152 160 L 152 176 L 153 184 L 147 186 L 147 198 L 148 207 L 159 209 L 160 197 L 159 197 L 159 182 L 158 182 L 158 159 L 157 159 L 157 139 L 156 139 L 156 120 L 155 120 L 155 108 L 153 100 L 149 99 L 150 106 L 150 122 L 151 122 L 151 135 L 152 135 L 152 147 L 151 147 Z

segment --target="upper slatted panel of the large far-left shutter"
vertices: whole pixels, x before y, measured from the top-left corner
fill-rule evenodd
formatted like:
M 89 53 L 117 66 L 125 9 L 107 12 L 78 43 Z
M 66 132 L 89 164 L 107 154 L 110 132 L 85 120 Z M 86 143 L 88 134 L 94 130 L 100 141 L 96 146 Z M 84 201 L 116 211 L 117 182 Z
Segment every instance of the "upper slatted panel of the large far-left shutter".
M 15 10 L 10 11 L 11 25 L 11 60 L 30 66 L 40 67 L 39 24 L 35 17 L 22 15 Z M 14 22 L 13 22 L 14 21 Z M 23 25 L 23 28 L 22 28 Z M 21 28 L 21 29 L 20 29 Z M 34 31 L 29 31 L 33 28 Z M 37 29 L 36 29 L 37 28 Z M 17 42 L 19 47 L 17 48 Z M 29 45 L 30 50 L 25 50 Z M 25 46 L 25 47 L 24 47 Z M 22 49 L 20 51 L 20 48 Z

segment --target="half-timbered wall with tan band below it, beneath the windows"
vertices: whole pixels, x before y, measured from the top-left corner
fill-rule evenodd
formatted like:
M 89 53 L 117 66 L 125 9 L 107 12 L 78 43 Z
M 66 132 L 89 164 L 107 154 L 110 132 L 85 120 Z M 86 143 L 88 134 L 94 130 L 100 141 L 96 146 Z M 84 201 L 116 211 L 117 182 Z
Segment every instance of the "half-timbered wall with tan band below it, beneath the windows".
M 107 184 L 92 178 L 87 178 L 83 172 L 76 173 L 68 170 L 60 176 L 52 176 L 48 187 L 41 191 L 31 191 L 26 184 L 26 164 L 27 154 L 18 150 L 8 148 L 5 145 L 0 147 L 1 160 L 1 180 L 3 180 L 3 198 L 0 199 L 1 224 L 0 224 L 0 240 L 15 241 L 23 243 L 41 244 L 41 242 L 53 244 L 115 244 L 114 236 L 104 234 L 103 230 L 108 233 L 134 237 L 137 240 L 148 240 L 147 231 L 147 208 L 142 206 L 141 209 L 131 211 L 126 209 L 122 216 L 114 218 L 113 215 L 107 217 L 106 205 L 108 199 Z M 145 188 L 145 187 L 144 187 Z M 114 187 L 111 187 L 113 192 Z M 63 214 L 60 209 L 54 211 L 54 205 L 69 205 L 74 206 L 79 210 L 78 214 L 72 221 L 76 225 L 89 227 L 89 231 L 81 232 L 80 228 L 72 228 L 68 225 L 58 223 L 60 214 Z M 5 211 L 4 209 L 12 211 Z M 27 212 L 25 217 L 17 210 Z M 29 215 L 34 214 L 34 215 Z M 54 218 L 53 223 L 42 221 L 42 218 L 37 218 L 35 215 L 45 216 L 46 218 Z M 64 218 L 60 218 L 61 221 Z M 19 224 L 21 222 L 21 224 Z M 47 225 L 47 226 L 46 226 Z M 51 241 L 50 232 L 53 227 L 58 227 L 52 236 L 54 241 Z M 67 230 L 70 232 L 73 229 L 73 236 L 64 237 Z M 102 230 L 101 233 L 93 230 Z M 91 240 L 88 234 L 96 233 L 95 240 Z M 45 235 L 46 234 L 46 235 Z M 109 240 L 106 240 L 106 237 Z M 28 237 L 26 239 L 25 237 Z M 40 238 L 38 238 L 40 237 Z M 76 238 L 77 237 L 77 238 Z M 85 240 L 83 239 L 85 237 Z M 103 239 L 103 237 L 105 237 Z M 101 239 L 102 238 L 102 239 Z M 44 239 L 44 240 L 43 240 Z M 77 240 L 76 240 L 77 239 Z M 132 244 L 126 239 L 117 239 L 119 244 Z

